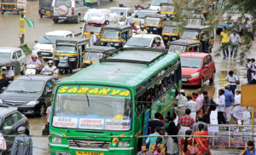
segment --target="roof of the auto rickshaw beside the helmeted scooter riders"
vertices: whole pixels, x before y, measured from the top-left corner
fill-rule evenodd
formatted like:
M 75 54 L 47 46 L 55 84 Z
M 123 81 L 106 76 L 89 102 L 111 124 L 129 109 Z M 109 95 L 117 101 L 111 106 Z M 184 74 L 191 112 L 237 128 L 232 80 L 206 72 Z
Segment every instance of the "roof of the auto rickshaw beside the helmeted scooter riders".
M 88 38 L 77 38 L 77 37 L 63 37 L 61 39 L 56 39 L 55 43 L 57 44 L 73 44 L 73 45 L 83 45 L 89 43 L 90 39 Z

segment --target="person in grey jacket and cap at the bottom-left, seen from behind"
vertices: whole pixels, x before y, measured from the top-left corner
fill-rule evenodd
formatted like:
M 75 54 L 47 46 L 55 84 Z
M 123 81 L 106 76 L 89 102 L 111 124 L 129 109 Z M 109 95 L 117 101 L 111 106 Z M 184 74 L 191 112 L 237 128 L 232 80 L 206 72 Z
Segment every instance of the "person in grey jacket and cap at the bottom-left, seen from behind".
M 25 134 L 26 128 L 20 126 L 12 146 L 11 155 L 32 155 L 32 138 Z

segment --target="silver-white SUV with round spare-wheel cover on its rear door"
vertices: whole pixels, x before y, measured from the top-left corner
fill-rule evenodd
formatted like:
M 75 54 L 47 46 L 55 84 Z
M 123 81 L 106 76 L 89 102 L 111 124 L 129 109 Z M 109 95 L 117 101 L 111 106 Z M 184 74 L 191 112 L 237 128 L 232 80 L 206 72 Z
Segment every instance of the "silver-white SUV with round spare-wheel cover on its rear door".
M 73 20 L 79 23 L 87 9 L 85 0 L 53 0 L 51 18 L 55 23 L 59 20 Z

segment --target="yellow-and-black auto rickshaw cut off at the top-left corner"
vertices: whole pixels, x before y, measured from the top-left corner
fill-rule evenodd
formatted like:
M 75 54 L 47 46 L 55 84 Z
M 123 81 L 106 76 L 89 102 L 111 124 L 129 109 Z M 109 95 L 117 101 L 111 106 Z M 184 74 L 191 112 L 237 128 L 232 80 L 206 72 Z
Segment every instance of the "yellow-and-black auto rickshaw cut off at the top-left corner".
M 17 0 L 1 0 L 1 14 L 4 14 L 6 11 L 16 11 L 17 14 L 20 14 L 20 9 L 17 8 Z

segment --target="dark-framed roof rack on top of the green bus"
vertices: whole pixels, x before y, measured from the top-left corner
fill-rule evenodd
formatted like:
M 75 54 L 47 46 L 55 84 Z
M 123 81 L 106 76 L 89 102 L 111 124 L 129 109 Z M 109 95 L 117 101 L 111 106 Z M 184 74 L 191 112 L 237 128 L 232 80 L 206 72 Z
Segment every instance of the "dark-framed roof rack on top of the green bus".
M 100 62 L 126 62 L 149 66 L 167 53 L 166 49 L 123 48 L 103 57 Z

